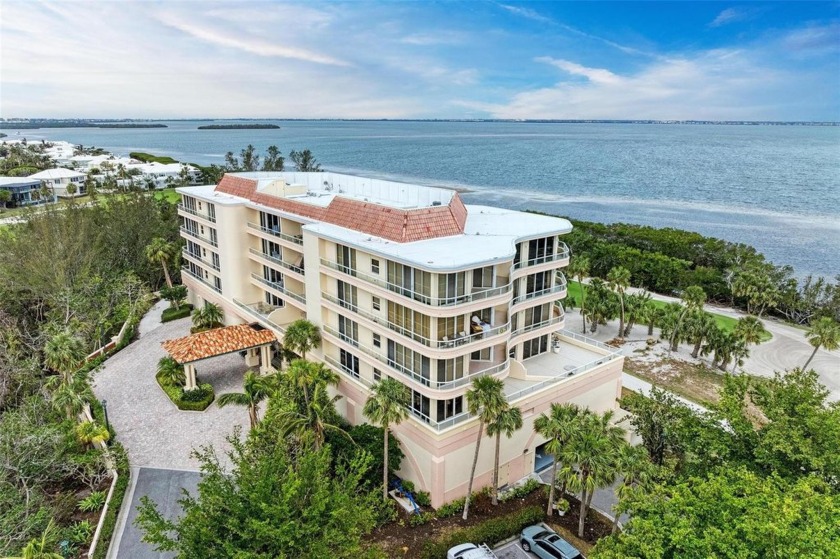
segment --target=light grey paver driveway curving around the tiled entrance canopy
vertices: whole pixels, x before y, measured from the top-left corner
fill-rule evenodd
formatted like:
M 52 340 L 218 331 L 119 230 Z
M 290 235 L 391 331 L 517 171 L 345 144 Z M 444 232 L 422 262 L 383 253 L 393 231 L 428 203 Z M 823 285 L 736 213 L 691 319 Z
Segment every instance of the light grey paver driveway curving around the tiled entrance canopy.
M 108 401 L 108 419 L 117 440 L 128 450 L 132 467 L 197 470 L 192 449 L 213 444 L 228 448 L 225 437 L 235 425 L 248 428 L 245 408 L 211 404 L 204 412 L 180 411 L 155 380 L 157 362 L 166 352 L 161 342 L 190 333 L 190 319 L 160 324 L 158 303 L 140 324 L 140 338 L 108 359 L 93 376 L 97 398 Z M 218 396 L 242 390 L 245 360 L 238 354 L 215 357 L 196 367 L 202 382 L 213 385 Z

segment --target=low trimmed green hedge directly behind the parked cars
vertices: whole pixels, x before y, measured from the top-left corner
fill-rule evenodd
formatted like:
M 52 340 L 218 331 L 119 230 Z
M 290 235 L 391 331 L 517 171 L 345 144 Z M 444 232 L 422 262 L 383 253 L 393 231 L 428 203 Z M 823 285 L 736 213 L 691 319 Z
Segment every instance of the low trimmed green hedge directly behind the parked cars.
M 518 535 L 523 528 L 542 522 L 545 518 L 545 511 L 542 507 L 526 507 L 520 511 L 491 518 L 481 524 L 462 528 L 450 532 L 434 541 L 427 541 L 423 544 L 420 552 L 421 559 L 440 559 L 446 557 L 449 548 L 461 543 L 486 543 L 493 545 L 511 536 Z

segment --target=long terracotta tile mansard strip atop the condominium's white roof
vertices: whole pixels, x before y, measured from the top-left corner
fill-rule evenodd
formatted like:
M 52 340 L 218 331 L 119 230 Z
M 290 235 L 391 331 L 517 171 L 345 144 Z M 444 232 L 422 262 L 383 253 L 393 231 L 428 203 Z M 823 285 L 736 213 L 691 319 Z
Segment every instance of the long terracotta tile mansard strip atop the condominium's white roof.
M 402 210 L 342 196 L 334 197 L 327 207 L 314 206 L 262 194 L 256 180 L 233 175 L 225 175 L 216 191 L 398 243 L 459 235 L 467 222 L 467 208 L 457 192 L 447 206 Z

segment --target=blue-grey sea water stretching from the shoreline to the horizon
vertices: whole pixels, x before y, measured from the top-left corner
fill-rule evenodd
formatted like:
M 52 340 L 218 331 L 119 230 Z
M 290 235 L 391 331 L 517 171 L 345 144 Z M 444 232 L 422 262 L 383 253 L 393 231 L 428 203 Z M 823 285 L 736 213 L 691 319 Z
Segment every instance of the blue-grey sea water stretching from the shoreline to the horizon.
M 840 128 L 639 122 L 149 120 L 168 128 L 6 129 L 118 155 L 222 164 L 248 144 L 323 168 L 455 188 L 468 204 L 675 227 L 756 247 L 799 277 L 840 274 Z M 264 122 L 270 130 L 197 130 Z M 20 134 L 18 134 L 20 132 Z

